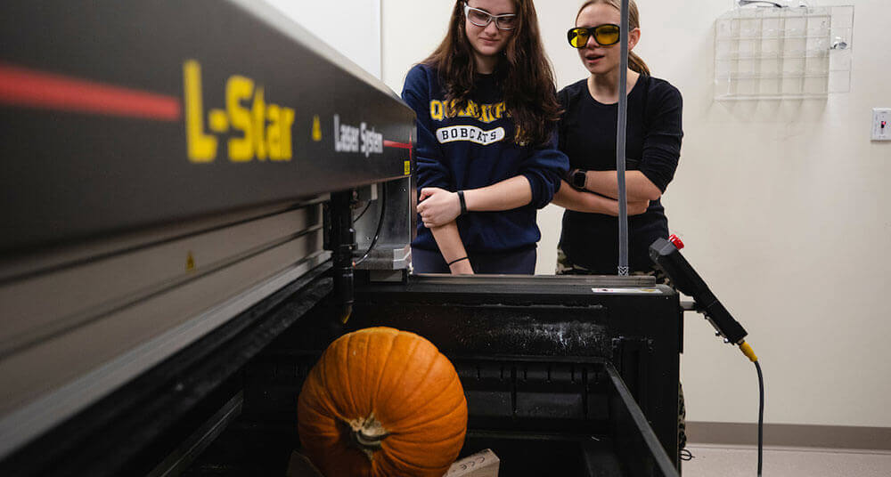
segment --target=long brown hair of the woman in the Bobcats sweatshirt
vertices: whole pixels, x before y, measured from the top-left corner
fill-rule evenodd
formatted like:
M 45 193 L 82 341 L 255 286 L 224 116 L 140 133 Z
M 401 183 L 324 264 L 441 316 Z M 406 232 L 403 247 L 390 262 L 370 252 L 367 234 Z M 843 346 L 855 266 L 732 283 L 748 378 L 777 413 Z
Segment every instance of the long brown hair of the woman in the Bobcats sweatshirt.
M 465 0 L 454 3 L 448 33 L 430 56 L 422 61 L 437 69 L 446 90 L 446 105 L 464 109 L 473 93 L 476 62 L 464 32 Z M 504 92 L 504 104 L 517 128 L 519 144 L 539 145 L 551 138 L 560 118 L 554 92 L 551 61 L 544 54 L 538 17 L 532 0 L 513 0 L 519 24 L 513 29 L 496 72 Z

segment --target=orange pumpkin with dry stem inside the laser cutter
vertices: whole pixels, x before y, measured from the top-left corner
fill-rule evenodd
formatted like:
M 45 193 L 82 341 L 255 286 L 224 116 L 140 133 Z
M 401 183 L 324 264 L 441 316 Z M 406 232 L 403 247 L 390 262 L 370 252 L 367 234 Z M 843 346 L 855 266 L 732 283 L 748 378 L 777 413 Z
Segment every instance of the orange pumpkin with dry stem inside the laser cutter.
M 303 384 L 298 415 L 307 456 L 328 477 L 442 477 L 467 431 L 452 363 L 390 327 L 332 343 Z

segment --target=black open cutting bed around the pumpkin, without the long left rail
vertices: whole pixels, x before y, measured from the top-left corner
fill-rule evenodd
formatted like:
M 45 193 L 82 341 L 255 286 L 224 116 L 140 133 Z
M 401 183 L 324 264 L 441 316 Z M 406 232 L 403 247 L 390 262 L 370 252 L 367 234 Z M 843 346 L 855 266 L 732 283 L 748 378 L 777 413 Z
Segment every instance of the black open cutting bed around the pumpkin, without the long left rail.
M 346 326 L 332 297 L 249 365 L 243 415 L 186 475 L 278 471 L 299 445 L 297 396 L 323 349 L 350 330 L 391 326 L 453 361 L 470 412 L 462 456 L 495 449 L 511 476 L 675 476 L 665 448 L 677 438 L 677 295 L 592 293 L 608 283 L 617 279 L 358 283 Z

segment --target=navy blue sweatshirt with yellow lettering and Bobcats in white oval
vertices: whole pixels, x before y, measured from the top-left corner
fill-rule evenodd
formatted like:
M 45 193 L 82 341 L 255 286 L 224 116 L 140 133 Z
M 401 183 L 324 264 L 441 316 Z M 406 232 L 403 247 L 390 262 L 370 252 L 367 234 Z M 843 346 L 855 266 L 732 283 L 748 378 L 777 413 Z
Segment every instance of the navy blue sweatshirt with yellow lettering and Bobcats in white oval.
M 458 217 L 458 230 L 469 253 L 508 252 L 535 247 L 541 233 L 536 208 L 551 202 L 569 161 L 557 150 L 556 125 L 551 141 L 519 146 L 508 117 L 497 74 L 480 75 L 467 109 L 450 115 L 437 71 L 417 65 L 408 72 L 402 98 L 418 116 L 415 144 L 418 190 L 479 189 L 522 175 L 532 188 L 527 206 L 502 212 L 469 212 Z M 418 219 L 413 247 L 438 250 L 430 230 Z

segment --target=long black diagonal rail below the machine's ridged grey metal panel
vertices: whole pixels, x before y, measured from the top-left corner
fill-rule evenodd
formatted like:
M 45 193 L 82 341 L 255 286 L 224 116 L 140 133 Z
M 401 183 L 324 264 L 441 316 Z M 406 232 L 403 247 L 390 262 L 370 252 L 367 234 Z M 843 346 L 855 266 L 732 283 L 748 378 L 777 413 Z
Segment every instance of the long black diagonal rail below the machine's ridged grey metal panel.
M 241 392 L 249 360 L 331 295 L 330 263 L 0 462 L 2 475 L 144 475 Z

